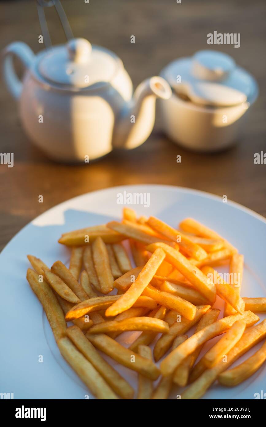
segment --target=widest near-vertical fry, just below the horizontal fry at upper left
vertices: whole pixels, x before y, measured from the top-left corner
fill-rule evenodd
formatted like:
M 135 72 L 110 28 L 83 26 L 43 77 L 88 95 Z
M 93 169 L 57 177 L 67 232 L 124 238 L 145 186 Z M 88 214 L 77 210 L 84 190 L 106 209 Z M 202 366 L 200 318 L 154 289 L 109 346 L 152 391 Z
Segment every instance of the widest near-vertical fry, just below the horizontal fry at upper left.
M 111 272 L 108 252 L 101 237 L 93 242 L 93 262 L 98 276 L 101 292 L 107 294 L 113 290 L 114 278 Z

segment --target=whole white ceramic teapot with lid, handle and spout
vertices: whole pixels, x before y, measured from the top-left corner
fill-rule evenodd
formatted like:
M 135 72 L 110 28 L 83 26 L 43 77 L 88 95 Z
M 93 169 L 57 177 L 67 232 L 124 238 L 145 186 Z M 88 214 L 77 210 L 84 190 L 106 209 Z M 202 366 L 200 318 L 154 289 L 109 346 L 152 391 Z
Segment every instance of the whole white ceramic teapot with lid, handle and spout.
M 153 129 L 156 97 L 171 96 L 162 77 L 151 77 L 132 97 L 121 59 L 83 38 L 36 56 L 26 44 L 14 42 L 3 55 L 6 84 L 19 102 L 26 134 L 58 161 L 93 160 L 113 147 L 139 146 Z M 26 67 L 23 81 L 12 56 Z

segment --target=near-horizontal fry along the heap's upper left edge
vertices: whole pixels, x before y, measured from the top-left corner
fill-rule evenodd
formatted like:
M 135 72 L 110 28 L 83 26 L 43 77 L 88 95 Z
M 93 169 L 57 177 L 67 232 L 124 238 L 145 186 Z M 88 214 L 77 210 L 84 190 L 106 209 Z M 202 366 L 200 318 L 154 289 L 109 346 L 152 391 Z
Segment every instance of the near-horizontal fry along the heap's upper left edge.
M 125 238 L 103 224 L 64 233 L 58 242 L 66 246 L 86 246 L 88 241 L 93 243 L 97 237 L 101 237 L 104 243 L 117 243 Z

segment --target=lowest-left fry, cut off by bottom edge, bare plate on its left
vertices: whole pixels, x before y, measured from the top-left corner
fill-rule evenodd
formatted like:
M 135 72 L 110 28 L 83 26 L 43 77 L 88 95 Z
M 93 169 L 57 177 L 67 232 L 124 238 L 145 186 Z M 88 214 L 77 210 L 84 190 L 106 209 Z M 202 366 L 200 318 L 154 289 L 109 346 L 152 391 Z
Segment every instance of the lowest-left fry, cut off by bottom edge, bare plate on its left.
M 93 395 L 98 399 L 118 399 L 103 377 L 83 354 L 78 351 L 67 336 L 59 339 L 58 347 L 64 359 L 67 360 Z

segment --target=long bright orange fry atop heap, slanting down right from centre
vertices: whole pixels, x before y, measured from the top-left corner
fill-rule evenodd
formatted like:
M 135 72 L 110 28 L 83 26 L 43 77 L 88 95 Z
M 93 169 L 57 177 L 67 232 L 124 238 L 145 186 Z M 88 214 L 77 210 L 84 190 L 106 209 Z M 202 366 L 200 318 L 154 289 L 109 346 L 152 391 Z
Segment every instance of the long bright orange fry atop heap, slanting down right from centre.
M 216 299 L 215 285 L 211 281 L 208 281 L 206 276 L 196 266 L 193 266 L 184 255 L 176 251 L 176 249 L 163 243 L 153 243 L 147 246 L 146 249 L 154 252 L 158 247 L 165 251 L 165 260 L 173 264 L 213 304 Z

